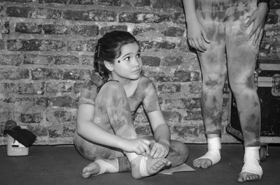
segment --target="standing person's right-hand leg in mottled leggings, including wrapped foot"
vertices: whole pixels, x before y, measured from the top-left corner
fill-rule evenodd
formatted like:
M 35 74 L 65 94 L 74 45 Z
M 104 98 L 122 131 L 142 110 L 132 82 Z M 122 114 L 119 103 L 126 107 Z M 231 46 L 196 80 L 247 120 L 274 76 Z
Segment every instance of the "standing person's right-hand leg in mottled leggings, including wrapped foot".
M 251 3 L 253 3 L 252 7 L 255 6 L 254 1 Z M 246 40 L 251 27 L 245 27 L 251 12 L 251 10 L 244 10 L 244 14 L 238 20 L 229 22 L 226 28 L 228 75 L 237 102 L 245 149 L 244 166 L 237 179 L 238 182 L 257 180 L 262 176 L 262 168 L 259 164 L 260 101 L 254 84 L 259 43 L 253 45 L 253 38 Z

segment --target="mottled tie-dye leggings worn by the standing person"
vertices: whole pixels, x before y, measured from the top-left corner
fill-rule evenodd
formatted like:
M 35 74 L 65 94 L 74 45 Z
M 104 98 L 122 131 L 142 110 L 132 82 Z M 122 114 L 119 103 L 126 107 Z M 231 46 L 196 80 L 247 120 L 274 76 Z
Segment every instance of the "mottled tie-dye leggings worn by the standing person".
M 197 52 L 202 68 L 202 114 L 206 134 L 221 134 L 223 87 L 228 74 L 237 101 L 245 147 L 260 145 L 260 101 L 254 79 L 259 44 L 246 40 L 253 24 L 246 22 L 256 0 L 197 0 L 197 16 L 211 43 Z

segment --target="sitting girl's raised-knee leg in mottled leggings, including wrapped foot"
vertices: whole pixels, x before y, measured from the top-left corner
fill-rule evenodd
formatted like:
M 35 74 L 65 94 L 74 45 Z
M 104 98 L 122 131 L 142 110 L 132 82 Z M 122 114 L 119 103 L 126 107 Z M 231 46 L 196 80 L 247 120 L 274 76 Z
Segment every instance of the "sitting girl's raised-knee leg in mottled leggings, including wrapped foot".
M 130 105 L 123 86 L 118 82 L 108 82 L 100 89 L 99 93 L 105 96 L 102 96 L 100 99 L 97 97 L 96 105 L 98 103 L 100 108 L 96 110 L 106 109 L 109 123 L 114 133 L 128 140 L 137 139 Z M 148 156 L 138 155 L 134 152 L 126 152 L 125 154 L 130 161 L 132 177 L 134 179 L 141 179 L 142 177 L 153 175 L 165 166 L 171 165 L 171 161 L 167 158 L 154 159 Z

